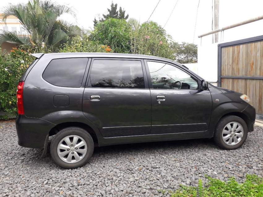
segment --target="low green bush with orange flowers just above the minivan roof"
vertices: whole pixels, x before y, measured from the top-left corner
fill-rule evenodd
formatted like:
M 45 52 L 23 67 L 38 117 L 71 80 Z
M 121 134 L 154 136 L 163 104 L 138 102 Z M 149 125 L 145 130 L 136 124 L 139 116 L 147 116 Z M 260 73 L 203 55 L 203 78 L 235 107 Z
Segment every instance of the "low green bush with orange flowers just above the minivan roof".
M 107 45 L 101 45 L 98 41 L 91 41 L 88 35 L 83 37 L 75 37 L 67 41 L 59 52 L 111 52 L 111 48 Z

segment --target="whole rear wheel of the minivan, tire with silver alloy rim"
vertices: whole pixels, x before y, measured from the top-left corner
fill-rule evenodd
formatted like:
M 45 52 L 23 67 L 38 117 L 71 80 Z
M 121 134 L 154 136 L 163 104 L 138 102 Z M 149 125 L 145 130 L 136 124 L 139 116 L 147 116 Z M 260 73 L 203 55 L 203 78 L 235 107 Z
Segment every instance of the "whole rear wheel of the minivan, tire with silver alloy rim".
M 79 127 L 62 129 L 50 145 L 51 157 L 63 168 L 78 168 L 85 165 L 92 156 L 93 150 L 92 137 Z

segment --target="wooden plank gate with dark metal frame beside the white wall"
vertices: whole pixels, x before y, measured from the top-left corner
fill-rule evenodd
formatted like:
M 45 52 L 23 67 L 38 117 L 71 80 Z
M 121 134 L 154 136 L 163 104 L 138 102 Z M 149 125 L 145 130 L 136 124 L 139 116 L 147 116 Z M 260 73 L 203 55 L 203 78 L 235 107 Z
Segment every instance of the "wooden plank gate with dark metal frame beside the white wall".
M 218 86 L 247 94 L 263 118 L 263 36 L 218 44 Z

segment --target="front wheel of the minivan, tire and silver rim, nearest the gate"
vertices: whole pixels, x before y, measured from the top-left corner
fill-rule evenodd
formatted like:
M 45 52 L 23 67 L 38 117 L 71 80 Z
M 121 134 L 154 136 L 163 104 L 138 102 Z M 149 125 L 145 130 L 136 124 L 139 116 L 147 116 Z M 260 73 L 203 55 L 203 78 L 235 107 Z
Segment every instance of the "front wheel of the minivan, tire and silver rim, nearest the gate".
M 246 122 L 235 115 L 219 120 L 214 132 L 214 141 L 222 149 L 232 150 L 242 146 L 248 136 Z

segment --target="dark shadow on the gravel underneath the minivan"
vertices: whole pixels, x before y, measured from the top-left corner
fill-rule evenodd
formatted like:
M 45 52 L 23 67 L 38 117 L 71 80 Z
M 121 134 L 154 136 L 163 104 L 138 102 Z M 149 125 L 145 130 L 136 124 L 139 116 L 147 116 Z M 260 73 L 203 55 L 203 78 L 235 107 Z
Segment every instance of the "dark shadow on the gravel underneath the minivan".
M 23 161 L 25 162 L 25 165 L 32 168 L 37 169 L 38 167 L 42 166 L 44 168 L 56 168 L 56 169 L 63 169 L 59 166 L 57 166 L 54 161 L 51 158 L 50 155 L 50 144 L 51 139 L 49 139 L 48 142 L 48 148 L 46 155 L 42 157 L 43 149 L 25 149 L 23 147 L 19 147 L 21 149 L 21 152 L 24 152 L 20 155 L 17 155 L 18 157 L 23 157 Z M 163 154 L 165 157 L 165 151 L 176 151 L 187 149 L 189 151 L 195 151 L 195 152 L 203 152 L 207 149 L 219 149 L 216 145 L 214 145 L 212 139 L 192 139 L 192 140 L 174 140 L 174 141 L 159 141 L 159 142 L 144 142 L 144 143 L 136 143 L 136 144 L 122 144 L 122 145 L 109 145 L 109 146 L 103 146 L 103 147 L 95 147 L 93 157 L 91 158 L 90 162 L 93 162 L 93 159 L 99 160 L 101 155 L 111 155 L 111 156 L 119 156 L 119 153 L 128 153 L 134 154 L 135 156 L 137 154 L 145 154 L 145 151 L 152 154 Z M 20 151 L 18 151 L 19 153 Z M 26 152 L 26 153 L 25 153 Z M 101 157 L 104 158 L 104 157 Z M 37 164 L 32 165 L 32 164 Z M 87 167 L 86 164 L 84 167 Z

